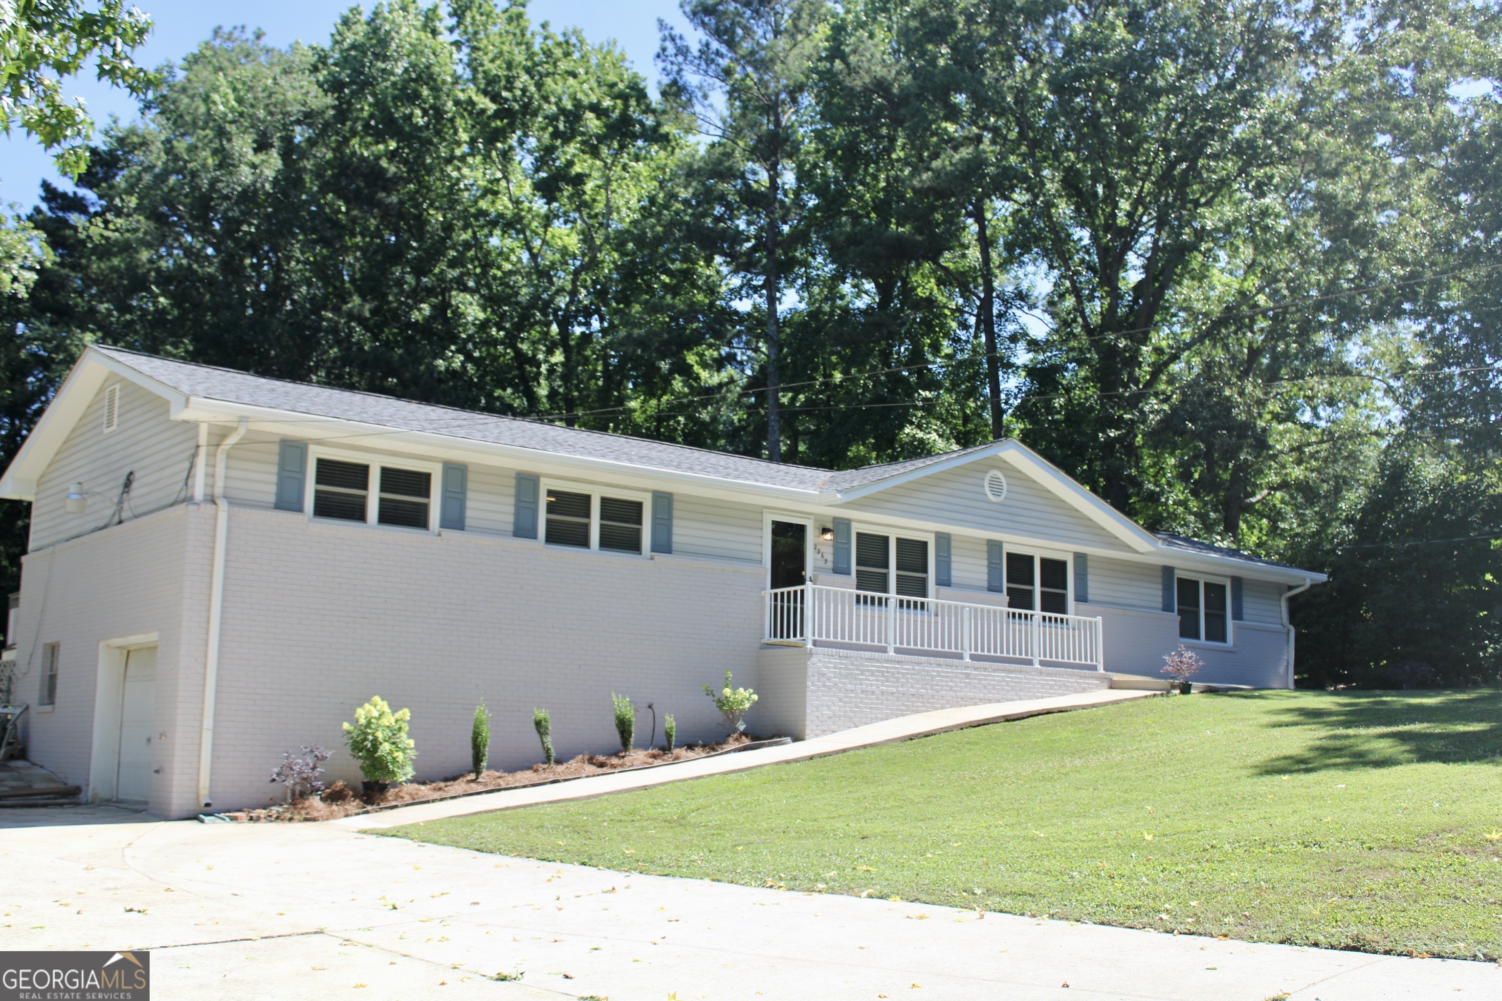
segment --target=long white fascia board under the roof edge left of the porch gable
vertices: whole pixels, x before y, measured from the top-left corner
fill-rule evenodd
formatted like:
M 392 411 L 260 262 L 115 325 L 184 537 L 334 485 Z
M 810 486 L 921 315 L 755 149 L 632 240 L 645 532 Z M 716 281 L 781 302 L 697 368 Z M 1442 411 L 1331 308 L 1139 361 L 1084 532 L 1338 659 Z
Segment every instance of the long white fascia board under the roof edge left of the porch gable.
M 348 446 L 385 449 L 388 452 L 416 453 L 433 456 L 446 453 L 455 459 L 475 459 L 482 456 L 497 465 L 521 468 L 529 473 L 557 473 L 563 476 L 584 479 L 623 479 L 646 480 L 671 489 L 673 486 L 692 485 L 695 492 L 706 497 L 724 497 L 745 503 L 759 503 L 766 498 L 778 501 L 801 501 L 811 504 L 817 494 L 789 486 L 769 486 L 765 483 L 743 483 L 727 480 L 718 476 L 695 473 L 680 473 L 676 470 L 658 470 L 635 462 L 613 459 L 595 459 L 589 456 L 572 456 L 559 452 L 544 452 L 523 446 L 499 444 L 494 441 L 475 441 L 431 431 L 410 431 L 391 428 L 386 425 L 362 423 L 342 417 L 320 417 L 317 414 L 302 414 L 266 407 L 251 407 L 246 404 L 231 404 L 218 399 L 192 398 L 180 413 L 173 414 L 174 420 L 204 420 L 210 423 L 234 423 L 240 417 L 252 422 L 254 431 L 267 434 L 285 434 L 303 441 L 338 440 Z

